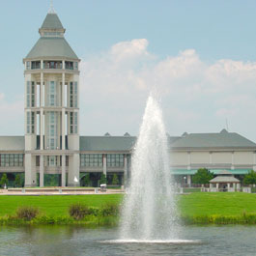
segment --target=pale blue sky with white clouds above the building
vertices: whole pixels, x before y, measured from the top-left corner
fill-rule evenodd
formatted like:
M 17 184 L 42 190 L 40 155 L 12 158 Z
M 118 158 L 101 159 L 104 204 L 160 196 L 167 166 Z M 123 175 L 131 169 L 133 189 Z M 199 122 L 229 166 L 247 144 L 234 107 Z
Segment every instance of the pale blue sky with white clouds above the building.
M 0 135 L 24 134 L 22 59 L 49 0 L 0 0 Z M 256 1 L 54 0 L 80 62 L 80 134 L 137 135 L 157 91 L 170 135 L 256 141 Z

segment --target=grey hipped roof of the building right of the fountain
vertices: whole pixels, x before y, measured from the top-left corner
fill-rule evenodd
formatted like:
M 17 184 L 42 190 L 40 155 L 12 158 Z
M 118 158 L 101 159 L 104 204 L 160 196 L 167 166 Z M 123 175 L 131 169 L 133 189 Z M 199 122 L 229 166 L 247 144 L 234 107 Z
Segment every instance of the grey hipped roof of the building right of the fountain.
M 172 144 L 172 148 L 256 148 L 256 144 L 236 132 L 190 133 Z

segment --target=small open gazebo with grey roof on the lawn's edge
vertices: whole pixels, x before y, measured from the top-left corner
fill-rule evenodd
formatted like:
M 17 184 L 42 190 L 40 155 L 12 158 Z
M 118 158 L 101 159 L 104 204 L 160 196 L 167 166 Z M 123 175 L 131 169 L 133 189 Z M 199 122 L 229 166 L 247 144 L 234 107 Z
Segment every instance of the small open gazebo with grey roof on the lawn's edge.
M 240 191 L 240 180 L 236 179 L 232 172 L 220 171 L 210 181 L 210 192 L 235 192 Z

